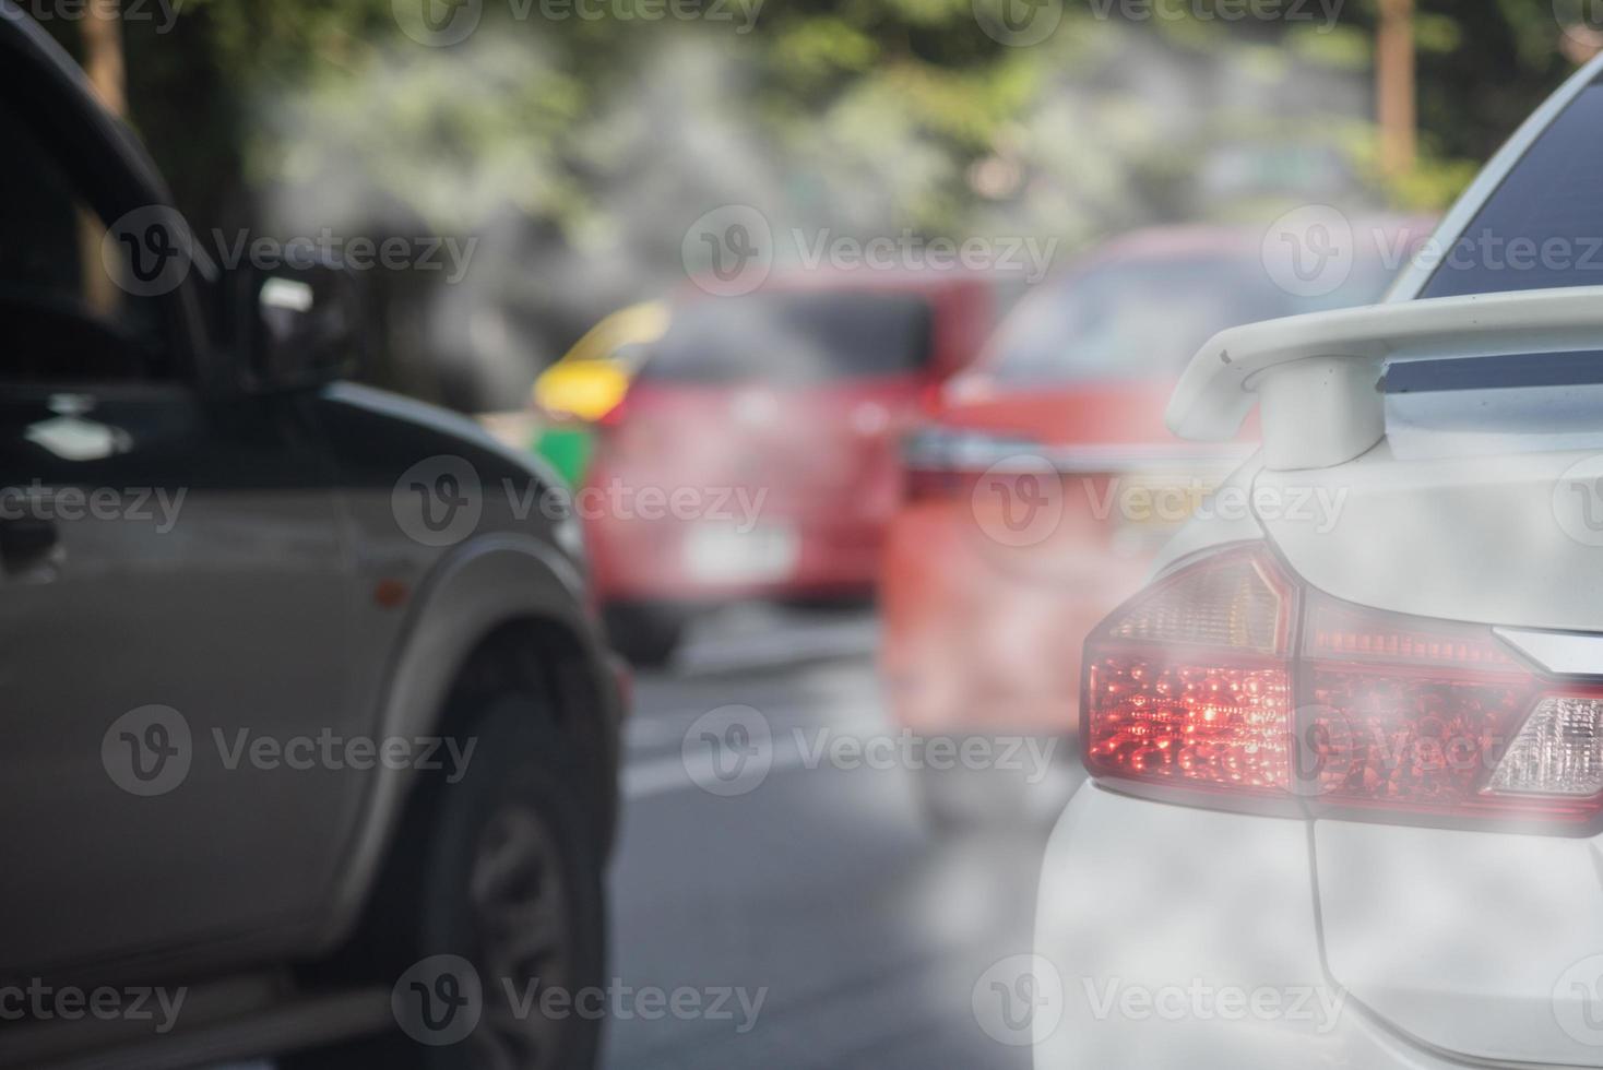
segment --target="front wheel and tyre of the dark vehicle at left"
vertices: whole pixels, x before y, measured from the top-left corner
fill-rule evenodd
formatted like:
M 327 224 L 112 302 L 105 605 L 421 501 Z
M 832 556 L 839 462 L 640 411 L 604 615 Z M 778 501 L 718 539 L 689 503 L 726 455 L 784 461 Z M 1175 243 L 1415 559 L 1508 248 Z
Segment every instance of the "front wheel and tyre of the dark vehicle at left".
M 414 916 L 386 926 L 410 934 L 385 979 L 399 1032 L 285 1067 L 595 1065 L 606 942 L 582 758 L 532 698 L 494 702 L 457 735 L 473 753 L 457 783 L 426 785 Z

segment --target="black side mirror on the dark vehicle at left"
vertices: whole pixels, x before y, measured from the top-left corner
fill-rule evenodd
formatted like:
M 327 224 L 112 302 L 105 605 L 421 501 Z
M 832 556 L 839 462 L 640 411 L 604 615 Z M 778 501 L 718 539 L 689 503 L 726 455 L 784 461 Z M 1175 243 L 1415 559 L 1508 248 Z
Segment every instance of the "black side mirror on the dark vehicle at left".
M 317 386 L 354 370 L 362 317 L 346 271 L 303 261 L 231 274 L 229 336 L 252 389 Z

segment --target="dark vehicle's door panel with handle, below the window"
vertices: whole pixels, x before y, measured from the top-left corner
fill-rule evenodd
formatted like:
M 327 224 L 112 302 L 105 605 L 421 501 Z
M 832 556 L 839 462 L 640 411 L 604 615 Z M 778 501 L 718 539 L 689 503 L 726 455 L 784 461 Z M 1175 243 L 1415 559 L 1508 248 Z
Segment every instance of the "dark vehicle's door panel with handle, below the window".
M 0 391 L 3 964 L 314 907 L 362 780 L 314 746 L 365 713 L 330 495 L 293 399 Z

